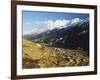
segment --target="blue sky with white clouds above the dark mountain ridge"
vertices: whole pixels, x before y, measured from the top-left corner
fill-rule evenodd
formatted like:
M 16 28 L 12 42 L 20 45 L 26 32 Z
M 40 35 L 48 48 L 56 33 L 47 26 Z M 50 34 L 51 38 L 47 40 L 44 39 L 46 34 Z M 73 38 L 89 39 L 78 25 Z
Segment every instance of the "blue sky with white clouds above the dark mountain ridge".
M 79 18 L 85 20 L 89 18 L 89 14 L 80 13 L 62 13 L 62 12 L 41 12 L 41 11 L 22 11 L 23 33 L 32 30 L 47 28 L 48 24 L 59 26 L 59 24 L 67 23 L 68 20 Z M 59 23 L 59 24 L 57 24 Z M 65 25 L 65 24 L 64 24 Z

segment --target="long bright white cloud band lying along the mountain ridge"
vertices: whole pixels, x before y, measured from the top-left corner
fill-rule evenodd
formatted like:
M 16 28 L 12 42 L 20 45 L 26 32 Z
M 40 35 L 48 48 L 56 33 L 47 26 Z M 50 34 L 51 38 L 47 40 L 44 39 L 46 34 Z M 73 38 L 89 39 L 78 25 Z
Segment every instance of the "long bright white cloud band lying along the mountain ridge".
M 39 21 L 39 22 L 35 22 L 34 24 L 37 26 L 35 26 L 35 28 L 33 27 L 33 29 L 31 31 L 28 32 L 24 32 L 23 35 L 30 35 L 30 34 L 39 34 L 48 30 L 53 30 L 55 28 L 65 28 L 68 27 L 70 25 L 75 25 L 77 23 L 79 23 L 80 21 L 82 21 L 79 18 L 75 18 L 75 19 L 71 19 L 71 20 L 47 20 L 47 21 Z M 28 23 L 29 24 L 29 23 Z

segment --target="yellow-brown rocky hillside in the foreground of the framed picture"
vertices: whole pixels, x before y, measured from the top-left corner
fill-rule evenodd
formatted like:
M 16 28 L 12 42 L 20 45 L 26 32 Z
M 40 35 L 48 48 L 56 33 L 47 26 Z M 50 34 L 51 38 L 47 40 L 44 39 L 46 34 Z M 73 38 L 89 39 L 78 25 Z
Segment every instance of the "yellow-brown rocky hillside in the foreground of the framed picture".
M 42 43 L 23 39 L 23 68 L 87 65 L 89 65 L 89 58 L 85 51 L 47 47 Z

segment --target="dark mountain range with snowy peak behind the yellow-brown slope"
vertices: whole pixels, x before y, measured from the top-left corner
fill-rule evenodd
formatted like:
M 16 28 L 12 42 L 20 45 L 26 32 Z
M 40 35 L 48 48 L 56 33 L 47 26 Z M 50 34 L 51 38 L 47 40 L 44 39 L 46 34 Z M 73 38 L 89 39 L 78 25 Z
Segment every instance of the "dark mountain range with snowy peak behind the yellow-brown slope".
M 75 18 L 66 27 L 61 26 L 39 34 L 26 34 L 23 38 L 44 43 L 48 47 L 80 49 L 89 53 L 89 20 Z

